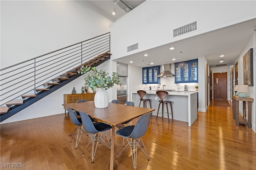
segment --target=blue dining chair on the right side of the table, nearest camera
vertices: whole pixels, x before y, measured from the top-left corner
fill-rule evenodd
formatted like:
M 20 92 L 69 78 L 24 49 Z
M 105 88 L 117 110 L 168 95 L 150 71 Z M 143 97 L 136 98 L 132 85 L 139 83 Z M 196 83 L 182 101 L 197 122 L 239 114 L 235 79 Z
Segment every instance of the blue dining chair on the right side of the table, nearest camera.
M 146 151 L 145 145 L 142 141 L 142 136 L 145 135 L 145 133 L 148 130 L 148 125 L 150 122 L 150 117 L 152 113 L 147 113 L 142 115 L 136 125 L 131 125 L 131 126 L 126 126 L 122 129 L 119 129 L 116 131 L 116 135 L 119 135 L 123 137 L 123 142 L 121 143 L 121 146 L 118 150 L 118 154 L 116 155 L 116 159 L 122 152 L 127 149 L 129 146 L 132 151 L 132 162 L 133 162 L 133 167 L 134 169 L 136 168 L 136 163 L 137 163 L 137 147 L 142 150 L 142 152 L 146 155 L 146 157 L 149 160 L 148 153 Z M 125 138 L 128 141 L 128 144 L 121 150 L 122 144 L 124 143 Z M 131 138 L 131 141 L 128 140 L 128 138 Z M 139 140 L 136 140 L 139 139 Z M 144 146 L 144 149 L 142 149 L 143 146 L 140 146 L 139 142 L 142 142 L 142 145 Z

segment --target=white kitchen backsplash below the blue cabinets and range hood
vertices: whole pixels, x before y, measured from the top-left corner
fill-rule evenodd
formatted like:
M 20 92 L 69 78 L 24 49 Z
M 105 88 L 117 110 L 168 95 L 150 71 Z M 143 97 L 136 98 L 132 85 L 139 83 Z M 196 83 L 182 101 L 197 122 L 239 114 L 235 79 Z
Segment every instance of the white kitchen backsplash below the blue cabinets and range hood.
M 161 84 L 142 84 L 141 90 L 149 90 L 149 86 L 151 86 L 151 90 L 157 90 L 158 87 L 159 89 L 163 89 L 163 85 L 165 85 L 164 89 L 168 90 L 184 90 L 184 85 L 188 85 L 188 90 L 190 91 L 195 91 L 196 88 L 195 86 L 198 86 L 198 83 L 174 83 L 174 76 L 173 77 L 161 77 Z M 200 87 L 198 87 L 200 90 Z

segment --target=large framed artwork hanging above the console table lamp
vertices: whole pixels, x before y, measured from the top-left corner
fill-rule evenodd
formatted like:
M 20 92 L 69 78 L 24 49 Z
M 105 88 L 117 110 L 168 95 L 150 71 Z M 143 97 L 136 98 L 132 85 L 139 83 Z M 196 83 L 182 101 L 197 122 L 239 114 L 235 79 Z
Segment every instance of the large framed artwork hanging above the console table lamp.
M 253 49 L 244 55 L 244 85 L 253 86 Z

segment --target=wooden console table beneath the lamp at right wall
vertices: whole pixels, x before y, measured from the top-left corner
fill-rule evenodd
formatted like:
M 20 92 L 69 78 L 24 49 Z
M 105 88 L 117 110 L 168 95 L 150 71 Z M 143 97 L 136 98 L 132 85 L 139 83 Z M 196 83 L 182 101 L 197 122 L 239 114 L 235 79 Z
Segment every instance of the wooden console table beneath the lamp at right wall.
M 233 95 L 233 119 L 236 119 L 236 126 L 239 124 L 248 125 L 248 128 L 252 128 L 252 101 L 253 98 L 240 98 Z M 247 106 L 247 121 L 243 117 L 239 117 L 239 101 L 243 101 L 243 110 Z

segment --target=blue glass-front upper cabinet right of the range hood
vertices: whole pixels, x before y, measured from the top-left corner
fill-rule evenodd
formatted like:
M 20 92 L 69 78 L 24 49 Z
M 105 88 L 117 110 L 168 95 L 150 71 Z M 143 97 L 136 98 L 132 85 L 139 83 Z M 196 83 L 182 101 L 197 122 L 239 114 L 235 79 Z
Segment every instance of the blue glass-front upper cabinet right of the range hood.
M 198 82 L 198 59 L 174 63 L 175 83 Z

